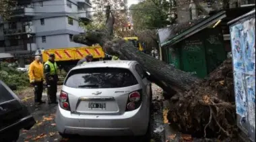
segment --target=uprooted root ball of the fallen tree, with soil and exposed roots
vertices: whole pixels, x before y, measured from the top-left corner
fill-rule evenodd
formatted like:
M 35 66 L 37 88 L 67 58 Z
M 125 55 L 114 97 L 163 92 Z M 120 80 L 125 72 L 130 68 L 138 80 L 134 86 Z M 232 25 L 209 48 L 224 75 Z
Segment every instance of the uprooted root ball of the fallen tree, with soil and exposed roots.
M 193 137 L 234 137 L 236 113 L 232 74 L 232 60 L 228 59 L 209 78 L 194 84 L 185 93 L 174 95 L 170 99 L 168 121 Z

